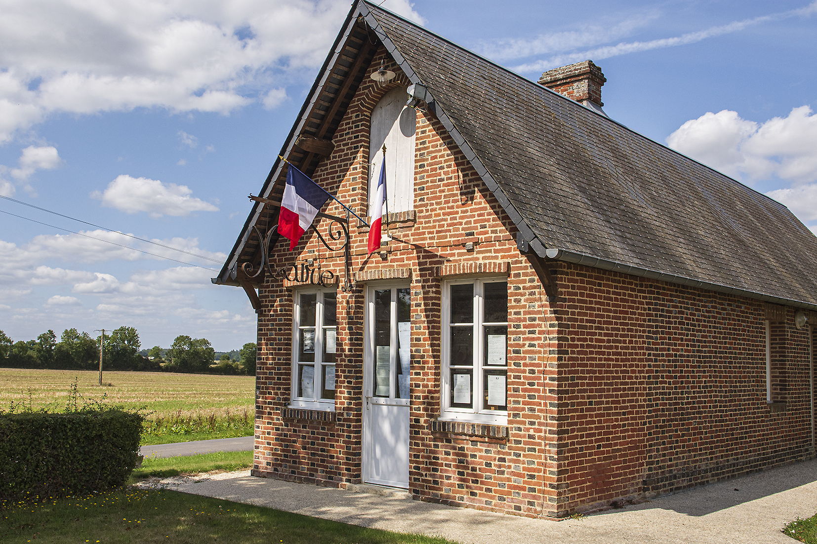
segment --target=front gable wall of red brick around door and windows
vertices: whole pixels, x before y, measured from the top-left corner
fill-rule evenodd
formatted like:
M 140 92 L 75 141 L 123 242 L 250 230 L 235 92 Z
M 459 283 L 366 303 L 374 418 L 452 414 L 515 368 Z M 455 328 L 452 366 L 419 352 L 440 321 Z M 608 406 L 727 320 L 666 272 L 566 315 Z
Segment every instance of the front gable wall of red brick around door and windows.
M 385 51 L 374 57 L 398 77 L 386 85 L 369 78 L 357 91 L 338 127 L 335 150 L 313 178 L 355 212 L 365 216 L 368 118 L 377 100 L 408 81 Z M 389 66 L 391 64 L 391 66 Z M 411 270 L 412 377 L 409 485 L 417 498 L 484 510 L 541 515 L 554 493 L 552 456 L 545 448 L 555 432 L 555 397 L 544 386 L 555 370 L 545 364 L 552 316 L 534 270 L 516 250 L 512 222 L 468 165 L 444 127 L 417 114 L 414 220 L 391 225 L 394 238 L 386 261 L 368 256 L 368 230 L 351 227 L 353 272 Z M 337 204 L 324 212 L 343 215 Z M 325 220 L 324 220 L 325 221 Z M 319 227 L 324 228 L 325 226 Z M 342 271 L 342 253 L 327 252 L 308 232 L 294 252 L 283 241 L 270 262 L 275 269 L 318 259 L 324 269 Z M 466 242 L 475 248 L 466 250 Z M 440 414 L 441 265 L 474 261 L 510 263 L 508 278 L 507 439 L 432 431 Z M 257 440 L 254 473 L 318 484 L 355 484 L 362 477 L 364 283 L 350 293 L 338 290 L 336 363 L 337 421 L 282 417 L 290 399 L 292 291 L 281 280 L 260 290 L 257 374 Z

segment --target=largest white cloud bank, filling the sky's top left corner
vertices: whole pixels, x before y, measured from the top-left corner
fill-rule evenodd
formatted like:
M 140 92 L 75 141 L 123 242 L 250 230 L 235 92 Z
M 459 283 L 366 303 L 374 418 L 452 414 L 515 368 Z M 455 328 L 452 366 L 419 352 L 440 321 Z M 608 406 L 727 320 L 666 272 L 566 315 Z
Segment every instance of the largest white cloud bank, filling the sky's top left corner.
M 407 0 L 385 6 L 415 20 Z M 49 114 L 228 114 L 311 77 L 347 0 L 5 2 L 0 143 Z M 304 32 L 309 29 L 309 32 Z

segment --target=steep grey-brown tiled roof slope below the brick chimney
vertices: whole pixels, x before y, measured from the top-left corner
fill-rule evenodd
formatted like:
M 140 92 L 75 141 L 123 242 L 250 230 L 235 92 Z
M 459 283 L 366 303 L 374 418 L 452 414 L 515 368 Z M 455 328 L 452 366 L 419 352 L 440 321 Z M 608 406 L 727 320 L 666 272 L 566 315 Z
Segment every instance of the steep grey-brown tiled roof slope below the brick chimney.
M 408 65 L 429 87 L 438 113 L 518 212 L 520 230 L 532 233 L 526 238 L 541 243 L 533 244 L 540 253 L 560 250 L 570 261 L 817 308 L 817 237 L 787 207 L 361 4 L 404 71 Z

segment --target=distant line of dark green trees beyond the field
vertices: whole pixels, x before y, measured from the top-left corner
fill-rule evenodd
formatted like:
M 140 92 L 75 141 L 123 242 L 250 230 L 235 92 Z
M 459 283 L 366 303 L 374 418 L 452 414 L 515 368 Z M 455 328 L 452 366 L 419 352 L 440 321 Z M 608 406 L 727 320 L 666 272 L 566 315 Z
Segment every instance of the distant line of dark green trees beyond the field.
M 94 370 L 99 368 L 102 336 L 91 337 L 87 332 L 67 328 L 60 341 L 50 329 L 37 340 L 14 342 L 0 331 L 0 366 L 11 368 L 51 368 L 58 370 Z M 154 346 L 141 350 L 139 333 L 133 327 L 120 327 L 105 335 L 103 370 L 138 370 L 165 372 L 206 372 L 217 374 L 248 374 L 255 376 L 256 345 L 244 344 L 235 351 L 237 357 L 216 352 L 206 338 L 176 337 L 169 349 Z M 233 353 L 233 352 L 230 352 Z

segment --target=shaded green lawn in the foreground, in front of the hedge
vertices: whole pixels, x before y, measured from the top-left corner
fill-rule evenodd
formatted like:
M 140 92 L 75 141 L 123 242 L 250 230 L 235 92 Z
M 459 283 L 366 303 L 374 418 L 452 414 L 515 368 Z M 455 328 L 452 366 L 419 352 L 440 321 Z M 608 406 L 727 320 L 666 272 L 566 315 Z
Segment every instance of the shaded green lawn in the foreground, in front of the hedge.
M 0 515 L 0 542 L 450 542 L 158 489 L 119 488 L 78 497 L 4 503 Z

